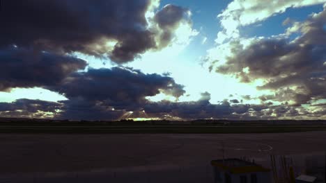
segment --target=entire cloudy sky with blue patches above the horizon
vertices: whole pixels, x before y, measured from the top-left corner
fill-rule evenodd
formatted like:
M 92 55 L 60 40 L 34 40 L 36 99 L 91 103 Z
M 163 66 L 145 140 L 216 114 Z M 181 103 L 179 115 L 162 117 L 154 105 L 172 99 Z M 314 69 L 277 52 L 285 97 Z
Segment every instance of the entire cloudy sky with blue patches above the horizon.
M 1 117 L 326 119 L 325 0 L 11 0 L 0 19 Z

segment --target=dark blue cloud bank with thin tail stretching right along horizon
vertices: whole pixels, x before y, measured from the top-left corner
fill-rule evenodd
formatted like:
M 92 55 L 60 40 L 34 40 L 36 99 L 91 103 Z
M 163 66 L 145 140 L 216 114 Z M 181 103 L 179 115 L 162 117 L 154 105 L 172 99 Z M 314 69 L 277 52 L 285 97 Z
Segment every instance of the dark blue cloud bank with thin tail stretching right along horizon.
M 185 91 L 183 86 L 177 85 L 168 76 L 144 74 L 120 67 L 74 73 L 60 87 L 49 89 L 64 94 L 69 99 L 61 101 L 61 119 L 221 119 L 232 116 L 236 119 L 248 112 L 261 112 L 268 107 L 231 104 L 227 100 L 212 104 L 208 92 L 202 93 L 199 101 L 148 101 L 146 96 L 155 96 L 160 92 L 179 97 Z

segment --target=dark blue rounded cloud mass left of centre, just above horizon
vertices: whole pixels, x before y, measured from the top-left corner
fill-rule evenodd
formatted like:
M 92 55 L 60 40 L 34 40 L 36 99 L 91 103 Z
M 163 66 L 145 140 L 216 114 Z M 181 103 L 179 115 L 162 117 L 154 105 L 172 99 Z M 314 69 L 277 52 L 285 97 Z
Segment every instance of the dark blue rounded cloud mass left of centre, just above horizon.
M 67 119 L 117 119 L 125 112 L 142 110 L 146 96 L 164 93 L 178 98 L 185 93 L 169 76 L 121 67 L 72 73 L 61 85 L 47 89 L 69 99 L 61 101 L 62 118 Z

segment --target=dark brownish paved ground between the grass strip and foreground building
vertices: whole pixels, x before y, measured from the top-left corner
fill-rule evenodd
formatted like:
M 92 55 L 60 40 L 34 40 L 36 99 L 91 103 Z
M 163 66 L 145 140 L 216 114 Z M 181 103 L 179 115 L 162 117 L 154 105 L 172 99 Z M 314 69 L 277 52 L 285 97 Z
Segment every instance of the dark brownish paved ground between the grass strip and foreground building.
M 326 150 L 325 139 L 326 132 L 0 134 L 0 178 L 78 172 L 102 172 L 111 177 L 123 172 L 128 175 L 142 172 L 147 176 L 148 171 L 150 175 L 162 170 L 183 173 L 187 167 L 201 167 L 201 180 L 203 177 L 211 180 L 212 175 L 207 168 L 210 168 L 210 160 L 222 158 L 222 146 L 226 157 L 254 157 L 256 162 L 268 165 L 266 159 L 269 154 L 295 156 L 323 153 Z

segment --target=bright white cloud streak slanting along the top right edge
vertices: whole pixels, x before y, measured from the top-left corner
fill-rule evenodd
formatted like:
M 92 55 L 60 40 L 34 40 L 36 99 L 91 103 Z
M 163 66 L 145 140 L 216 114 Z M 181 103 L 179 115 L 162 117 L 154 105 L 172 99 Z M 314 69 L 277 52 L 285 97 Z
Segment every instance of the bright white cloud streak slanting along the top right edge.
M 285 12 L 288 8 L 300 8 L 319 3 L 325 3 L 325 0 L 277 0 L 270 3 L 256 0 L 234 0 L 217 16 L 224 30 L 218 33 L 216 41 L 222 43 L 228 38 L 238 38 L 240 37 L 240 26 L 263 21 L 268 17 Z

